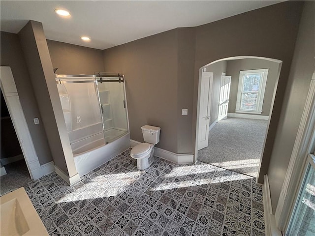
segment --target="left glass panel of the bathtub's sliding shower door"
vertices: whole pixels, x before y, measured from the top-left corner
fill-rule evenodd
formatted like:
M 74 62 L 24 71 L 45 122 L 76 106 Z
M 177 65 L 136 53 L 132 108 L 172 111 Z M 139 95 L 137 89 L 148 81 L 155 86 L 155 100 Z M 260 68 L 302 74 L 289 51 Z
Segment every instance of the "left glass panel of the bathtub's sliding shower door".
M 58 80 L 68 136 L 74 155 L 105 145 L 95 78 Z

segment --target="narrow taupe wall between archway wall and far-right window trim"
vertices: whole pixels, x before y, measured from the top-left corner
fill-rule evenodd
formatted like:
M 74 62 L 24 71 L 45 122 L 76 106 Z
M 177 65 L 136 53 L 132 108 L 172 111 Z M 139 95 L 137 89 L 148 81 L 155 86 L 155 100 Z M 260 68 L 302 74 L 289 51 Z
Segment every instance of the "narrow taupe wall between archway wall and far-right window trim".
M 315 2 L 306 1 L 294 49 L 288 86 L 285 90 L 284 104 L 281 110 L 275 144 L 270 158 L 268 179 L 274 212 L 291 157 L 312 74 L 315 71 L 314 12 Z

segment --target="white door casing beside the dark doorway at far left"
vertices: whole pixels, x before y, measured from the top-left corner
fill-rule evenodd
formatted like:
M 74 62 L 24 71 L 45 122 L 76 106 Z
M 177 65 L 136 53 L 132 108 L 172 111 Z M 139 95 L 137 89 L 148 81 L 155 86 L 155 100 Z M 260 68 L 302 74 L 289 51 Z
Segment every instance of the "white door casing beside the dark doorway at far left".
M 32 179 L 43 176 L 32 136 L 20 103 L 11 67 L 1 66 L 0 84 L 6 106 L 18 137 L 22 153 Z

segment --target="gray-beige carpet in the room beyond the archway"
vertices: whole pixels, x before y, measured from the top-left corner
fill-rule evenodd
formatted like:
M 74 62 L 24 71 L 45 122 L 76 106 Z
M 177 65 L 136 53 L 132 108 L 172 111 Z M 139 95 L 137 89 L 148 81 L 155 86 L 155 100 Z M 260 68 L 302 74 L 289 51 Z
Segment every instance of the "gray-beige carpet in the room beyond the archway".
M 227 118 L 209 132 L 208 148 L 198 151 L 198 160 L 257 177 L 267 120 Z

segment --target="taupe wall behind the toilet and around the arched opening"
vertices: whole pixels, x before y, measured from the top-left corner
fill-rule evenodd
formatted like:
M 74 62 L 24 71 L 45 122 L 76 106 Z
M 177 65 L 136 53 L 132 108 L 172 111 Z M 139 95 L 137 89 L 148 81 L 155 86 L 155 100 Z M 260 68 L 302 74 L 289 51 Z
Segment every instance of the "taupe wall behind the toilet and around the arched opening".
M 183 150 L 194 153 L 199 68 L 217 59 L 232 56 L 279 59 L 283 61 L 280 86 L 269 124 L 262 165 L 262 173 L 266 173 L 302 6 L 301 1 L 286 1 L 188 28 L 194 34 L 187 39 L 188 45 L 193 45 L 194 42 L 193 61 L 192 58 L 187 60 L 186 57 L 179 56 L 178 45 L 186 42 L 183 37 L 187 35 L 181 34 L 179 29 L 104 50 L 105 70 L 118 71 L 126 76 L 131 139 L 143 141 L 140 126 L 152 123 L 162 128 L 161 141 L 157 147 L 177 153 L 183 153 Z M 187 28 L 181 30 L 185 29 Z M 185 83 L 180 82 L 182 78 L 176 67 L 183 60 L 186 61 L 185 69 L 194 72 L 193 77 L 189 77 L 193 80 L 193 87 L 192 81 L 187 83 L 188 78 Z M 180 116 L 182 108 L 187 108 L 191 115 Z M 179 131 L 174 128 L 179 123 L 180 132 L 185 136 L 179 137 L 174 133 Z M 182 149 L 182 144 L 188 148 Z

